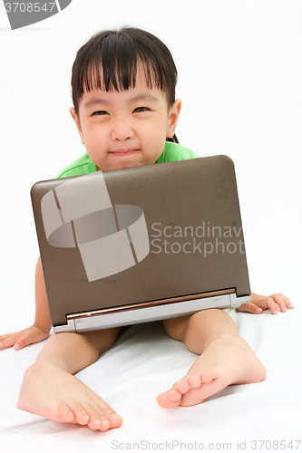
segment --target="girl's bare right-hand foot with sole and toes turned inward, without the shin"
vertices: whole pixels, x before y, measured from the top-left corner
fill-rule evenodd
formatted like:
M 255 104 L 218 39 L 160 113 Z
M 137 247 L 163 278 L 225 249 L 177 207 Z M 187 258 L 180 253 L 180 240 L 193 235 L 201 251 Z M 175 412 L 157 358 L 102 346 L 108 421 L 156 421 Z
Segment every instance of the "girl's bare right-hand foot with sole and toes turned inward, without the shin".
M 265 366 L 247 342 L 223 335 L 210 342 L 188 374 L 156 400 L 164 409 L 195 406 L 230 384 L 260 382 L 266 374 Z

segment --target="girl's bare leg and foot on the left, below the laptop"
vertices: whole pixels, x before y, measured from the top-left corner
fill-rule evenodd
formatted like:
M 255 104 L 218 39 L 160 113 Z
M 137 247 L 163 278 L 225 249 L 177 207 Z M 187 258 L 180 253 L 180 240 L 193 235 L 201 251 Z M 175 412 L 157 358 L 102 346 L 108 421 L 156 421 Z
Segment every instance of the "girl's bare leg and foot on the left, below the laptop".
M 119 328 L 89 333 L 56 333 L 24 374 L 17 407 L 48 419 L 119 428 L 122 417 L 73 374 L 91 365 L 114 344 Z

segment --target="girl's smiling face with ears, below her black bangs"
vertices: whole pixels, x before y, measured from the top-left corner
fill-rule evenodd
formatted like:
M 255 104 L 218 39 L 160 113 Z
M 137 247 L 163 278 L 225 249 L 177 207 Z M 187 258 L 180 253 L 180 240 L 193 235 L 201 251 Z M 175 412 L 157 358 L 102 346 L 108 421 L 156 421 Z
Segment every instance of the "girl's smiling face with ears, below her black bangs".
M 88 156 L 99 170 L 110 170 L 155 163 L 174 135 L 180 105 L 169 108 L 165 93 L 148 88 L 138 71 L 134 88 L 83 92 L 78 114 L 70 111 Z

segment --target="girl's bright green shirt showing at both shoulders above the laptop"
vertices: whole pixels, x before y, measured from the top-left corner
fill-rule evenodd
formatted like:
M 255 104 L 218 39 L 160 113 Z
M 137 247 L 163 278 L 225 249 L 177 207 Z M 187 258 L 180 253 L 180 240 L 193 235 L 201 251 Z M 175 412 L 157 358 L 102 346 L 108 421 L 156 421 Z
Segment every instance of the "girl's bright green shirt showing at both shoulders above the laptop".
M 189 148 L 185 148 L 178 143 L 166 141 L 162 154 L 160 158 L 157 159 L 156 163 L 161 164 L 161 162 L 171 162 L 173 160 L 185 160 L 194 158 L 198 158 L 198 155 L 195 154 L 195 152 L 191 151 Z M 70 165 L 67 165 L 67 167 L 60 171 L 60 173 L 57 175 L 57 178 L 87 175 L 88 173 L 93 173 L 94 171 L 97 171 L 97 167 L 93 160 L 90 159 L 88 154 L 85 153 L 79 159 L 74 160 L 74 162 L 72 162 Z

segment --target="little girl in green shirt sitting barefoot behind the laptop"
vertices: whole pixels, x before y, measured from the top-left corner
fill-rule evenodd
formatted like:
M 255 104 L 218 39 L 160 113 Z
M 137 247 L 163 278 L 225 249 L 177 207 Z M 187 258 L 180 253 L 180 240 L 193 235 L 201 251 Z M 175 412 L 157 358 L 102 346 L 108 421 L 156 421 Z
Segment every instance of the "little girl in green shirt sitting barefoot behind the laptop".
M 86 153 L 59 177 L 197 157 L 175 137 L 181 106 L 175 99 L 176 81 L 170 51 L 152 34 L 123 28 L 94 35 L 77 53 L 72 76 L 70 111 Z M 20 350 L 48 337 L 52 323 L 40 258 L 35 299 L 34 325 L 0 337 L 0 349 Z M 283 294 L 252 294 L 252 302 L 240 310 L 261 313 L 269 308 L 277 313 L 276 304 L 282 312 L 292 308 Z M 162 408 L 192 406 L 229 384 L 265 379 L 264 365 L 223 310 L 204 310 L 162 324 L 172 338 L 197 354 L 187 375 L 157 397 Z M 18 408 L 91 429 L 119 428 L 122 417 L 73 375 L 112 347 L 120 331 L 116 327 L 52 335 L 24 374 Z

